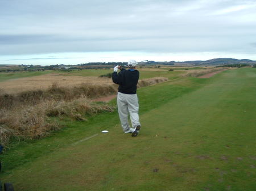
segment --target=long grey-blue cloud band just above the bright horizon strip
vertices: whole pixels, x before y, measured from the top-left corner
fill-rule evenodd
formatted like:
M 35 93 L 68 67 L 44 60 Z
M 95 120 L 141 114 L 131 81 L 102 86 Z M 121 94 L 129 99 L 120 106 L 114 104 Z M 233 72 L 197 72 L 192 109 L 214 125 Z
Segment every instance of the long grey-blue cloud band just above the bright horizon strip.
M 21 48 L 16 49 L 17 54 L 26 54 L 27 50 L 31 50 L 31 53 L 40 54 L 52 53 L 52 49 L 57 52 L 104 52 L 104 51 L 143 51 L 143 52 L 205 52 L 210 51 L 230 51 L 243 52 L 248 48 L 243 45 L 243 41 L 236 42 L 237 46 L 234 46 L 232 40 L 220 40 L 220 39 L 190 39 L 190 38 L 162 38 L 162 39 L 140 39 L 140 40 L 94 40 L 94 41 L 81 41 L 70 42 L 68 47 L 65 43 L 52 43 L 42 45 L 23 45 Z M 0 49 L 1 52 L 8 54 L 13 50 L 13 46 L 8 46 L 6 49 Z M 250 48 L 250 51 L 255 52 L 255 49 Z

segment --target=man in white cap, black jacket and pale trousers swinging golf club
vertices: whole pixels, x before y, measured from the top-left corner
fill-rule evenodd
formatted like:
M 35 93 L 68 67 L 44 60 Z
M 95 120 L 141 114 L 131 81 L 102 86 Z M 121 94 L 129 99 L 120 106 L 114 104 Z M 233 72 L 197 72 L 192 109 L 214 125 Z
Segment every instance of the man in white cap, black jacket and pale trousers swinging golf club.
M 136 137 L 141 129 L 139 123 L 139 103 L 136 94 L 137 83 L 139 80 L 139 71 L 136 70 L 137 62 L 130 60 L 128 62 L 129 69 L 123 69 L 122 66 L 115 66 L 112 74 L 112 80 L 118 84 L 117 107 L 118 114 L 124 133 L 131 133 L 132 137 Z M 119 73 L 117 71 L 121 70 Z M 129 126 L 128 115 L 130 114 L 131 125 Z

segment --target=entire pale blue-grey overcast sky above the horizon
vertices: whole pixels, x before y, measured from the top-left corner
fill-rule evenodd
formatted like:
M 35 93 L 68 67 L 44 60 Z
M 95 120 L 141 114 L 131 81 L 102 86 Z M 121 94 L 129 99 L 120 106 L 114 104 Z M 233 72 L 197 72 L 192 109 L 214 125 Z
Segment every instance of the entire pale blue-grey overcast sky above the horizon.
M 255 52 L 255 0 L 0 0 L 0 64 L 256 60 Z

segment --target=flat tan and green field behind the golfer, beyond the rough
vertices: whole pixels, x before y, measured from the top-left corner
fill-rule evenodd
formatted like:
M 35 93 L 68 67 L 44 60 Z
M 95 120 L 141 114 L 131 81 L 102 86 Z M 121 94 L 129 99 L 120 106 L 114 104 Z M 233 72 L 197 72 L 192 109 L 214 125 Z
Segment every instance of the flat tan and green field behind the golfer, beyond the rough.
M 180 71 L 157 69 L 142 69 L 140 79 L 167 77 L 175 79 Z M 157 71 L 157 72 L 156 72 Z M 113 70 L 72 70 L 72 71 L 38 71 L 27 73 L 0 74 L 0 88 L 8 94 L 15 94 L 27 90 L 45 90 L 57 83 L 59 86 L 72 87 L 81 83 L 112 84 L 111 78 L 100 78 L 102 74 L 112 73 Z

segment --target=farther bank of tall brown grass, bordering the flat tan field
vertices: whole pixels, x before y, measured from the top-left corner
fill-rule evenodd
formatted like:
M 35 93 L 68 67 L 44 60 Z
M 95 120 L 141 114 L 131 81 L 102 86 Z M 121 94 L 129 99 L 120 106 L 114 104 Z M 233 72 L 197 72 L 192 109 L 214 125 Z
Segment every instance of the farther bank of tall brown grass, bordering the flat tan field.
M 30 90 L 18 94 L 0 93 L 0 108 L 11 109 L 15 105 L 34 105 L 46 100 L 73 100 L 81 96 L 89 98 L 110 95 L 117 92 L 117 86 L 82 83 L 74 87 L 61 87 L 53 83 L 47 90 Z

